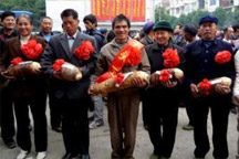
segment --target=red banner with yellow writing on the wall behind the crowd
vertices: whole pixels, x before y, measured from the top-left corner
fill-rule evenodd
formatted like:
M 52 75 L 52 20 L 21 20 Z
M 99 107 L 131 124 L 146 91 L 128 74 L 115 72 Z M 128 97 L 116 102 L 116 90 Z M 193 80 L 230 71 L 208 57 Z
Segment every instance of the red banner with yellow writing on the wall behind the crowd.
M 123 13 L 131 21 L 145 21 L 146 0 L 91 0 L 91 12 L 97 21 L 111 21 Z

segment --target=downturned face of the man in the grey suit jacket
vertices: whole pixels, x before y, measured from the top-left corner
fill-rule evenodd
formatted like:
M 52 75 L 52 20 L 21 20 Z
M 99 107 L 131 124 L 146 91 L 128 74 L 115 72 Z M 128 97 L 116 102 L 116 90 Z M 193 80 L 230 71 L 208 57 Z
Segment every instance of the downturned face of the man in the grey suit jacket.
M 73 19 L 72 15 L 70 17 L 63 17 L 62 18 L 63 21 L 63 28 L 65 30 L 65 32 L 72 36 L 76 33 L 77 31 L 77 26 L 79 26 L 79 20 Z

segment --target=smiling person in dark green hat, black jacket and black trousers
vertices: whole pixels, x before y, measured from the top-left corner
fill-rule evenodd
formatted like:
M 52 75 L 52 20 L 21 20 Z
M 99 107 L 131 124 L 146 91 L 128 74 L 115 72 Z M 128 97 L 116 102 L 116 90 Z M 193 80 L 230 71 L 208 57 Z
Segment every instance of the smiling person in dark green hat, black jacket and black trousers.
M 150 159 L 170 158 L 175 144 L 181 82 L 177 80 L 160 82 L 156 73 L 168 68 L 163 57 L 167 51 L 177 52 L 179 56 L 177 67 L 184 70 L 184 52 L 173 43 L 172 33 L 173 28 L 167 21 L 157 22 L 154 26 L 156 43 L 145 49 L 150 63 L 152 85 L 143 96 L 143 119 L 154 146 Z

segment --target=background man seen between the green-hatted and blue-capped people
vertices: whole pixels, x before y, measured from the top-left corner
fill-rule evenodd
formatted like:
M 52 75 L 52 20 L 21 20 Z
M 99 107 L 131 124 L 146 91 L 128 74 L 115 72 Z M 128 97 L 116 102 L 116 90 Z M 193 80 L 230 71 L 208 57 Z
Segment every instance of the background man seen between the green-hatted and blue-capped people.
M 184 26 L 181 24 L 176 24 L 175 30 L 174 30 L 174 34 L 175 34 L 174 41 L 180 47 L 184 47 L 186 45 L 183 29 Z

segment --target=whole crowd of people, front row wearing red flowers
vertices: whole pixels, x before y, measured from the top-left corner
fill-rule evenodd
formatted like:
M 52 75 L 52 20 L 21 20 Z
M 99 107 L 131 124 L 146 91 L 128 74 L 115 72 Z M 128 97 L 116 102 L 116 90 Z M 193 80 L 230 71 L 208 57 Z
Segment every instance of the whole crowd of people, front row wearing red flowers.
M 145 23 L 141 32 L 131 36 L 131 21 L 124 14 L 113 19 L 111 31 L 97 30 L 97 19 L 93 14 L 84 17 L 86 31 L 81 31 L 79 14 L 73 9 L 62 11 L 61 19 L 62 33 L 53 33 L 53 20 L 44 17 L 40 21 L 40 33 L 33 35 L 33 22 L 29 15 L 21 14 L 17 19 L 11 11 L 1 14 L 1 137 L 9 148 L 18 145 L 20 152 L 17 159 L 27 158 L 31 151 L 32 130 L 37 159 L 46 157 L 46 98 L 52 130 L 63 136 L 65 155 L 62 159 L 91 158 L 90 129 L 104 125 L 104 105 L 110 124 L 111 158 L 134 159 L 141 102 L 144 128 L 154 147 L 149 159 L 170 158 L 180 105 L 186 106 L 189 118 L 183 129 L 194 130 L 195 159 L 204 159 L 210 149 L 207 135 L 209 110 L 214 158 L 229 157 L 228 116 L 231 110 L 237 110 L 239 103 L 239 24 L 227 26 L 221 32 L 214 15 L 201 17 L 198 28 L 193 24 L 173 28 L 167 20 L 160 20 Z M 137 52 L 136 49 L 125 49 L 133 39 L 144 44 L 139 57 L 123 54 L 124 51 Z M 32 40 L 42 46 L 37 56 L 23 49 Z M 93 50 L 89 56 L 81 57 L 75 50 L 86 41 Z M 172 57 L 169 62 L 166 54 Z M 8 70 L 15 57 L 38 62 L 41 67 L 33 70 L 31 75 L 15 76 Z M 82 78 L 73 82 L 63 80 L 52 66 L 59 59 L 76 66 Z M 184 72 L 183 78 L 173 77 L 174 74 L 168 80 L 163 78 L 163 74 L 167 75 L 168 70 L 175 67 Z M 136 76 L 132 88 L 110 93 L 107 97 L 94 94 L 93 86 L 98 77 L 129 72 L 144 72 L 149 80 Z M 218 80 L 220 77 L 228 77 L 232 84 L 225 85 Z M 210 83 L 210 80 L 214 82 Z M 208 87 L 212 91 L 209 92 Z M 93 112 L 91 123 L 89 112 Z M 239 149 L 236 159 L 239 159 Z

